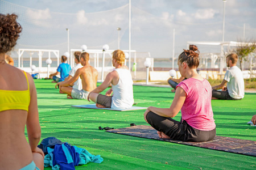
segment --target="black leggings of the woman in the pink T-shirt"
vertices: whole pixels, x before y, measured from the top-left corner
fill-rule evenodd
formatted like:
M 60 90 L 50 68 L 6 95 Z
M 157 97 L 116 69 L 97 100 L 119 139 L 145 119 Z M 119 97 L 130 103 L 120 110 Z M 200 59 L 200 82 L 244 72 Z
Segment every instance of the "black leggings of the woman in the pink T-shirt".
M 192 128 L 186 121 L 179 122 L 170 117 L 162 117 L 153 112 L 147 113 L 148 123 L 156 130 L 162 131 L 171 139 L 184 142 L 206 142 L 216 136 L 216 129 L 210 131 Z

